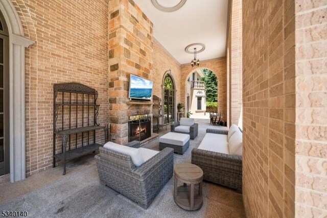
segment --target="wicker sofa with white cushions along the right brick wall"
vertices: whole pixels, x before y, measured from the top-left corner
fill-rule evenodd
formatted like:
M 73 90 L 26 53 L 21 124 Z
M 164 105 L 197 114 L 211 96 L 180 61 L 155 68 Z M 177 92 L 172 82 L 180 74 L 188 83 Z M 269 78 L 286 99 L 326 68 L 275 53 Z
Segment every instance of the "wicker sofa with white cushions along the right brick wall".
M 201 144 L 192 150 L 192 163 L 203 170 L 203 180 L 242 192 L 242 133 L 236 128 L 235 133 L 241 136 L 233 136 L 231 129 L 206 129 Z M 236 128 L 233 126 L 234 130 Z M 235 138 L 236 143 L 233 143 Z M 240 143 L 241 147 L 235 147 Z M 232 144 L 237 145 L 231 147 Z

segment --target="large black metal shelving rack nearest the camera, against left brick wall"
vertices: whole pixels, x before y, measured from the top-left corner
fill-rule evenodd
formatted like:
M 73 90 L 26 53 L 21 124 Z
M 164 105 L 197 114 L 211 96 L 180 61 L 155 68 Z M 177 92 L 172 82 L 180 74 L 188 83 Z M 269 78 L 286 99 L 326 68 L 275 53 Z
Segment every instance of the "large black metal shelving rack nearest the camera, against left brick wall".
M 58 102 L 58 94 L 61 93 L 61 101 Z M 76 94 L 75 101 L 72 102 L 72 95 Z M 65 95 L 69 97 L 65 98 Z M 82 95 L 82 101 L 79 102 L 79 95 Z M 93 102 L 90 102 L 90 96 Z M 85 99 L 86 97 L 86 99 Z M 67 99 L 67 101 L 65 101 Z M 68 100 L 69 99 L 69 100 Z M 53 114 L 53 167 L 56 166 L 56 159 L 63 160 L 64 170 L 66 173 L 66 160 L 74 159 L 94 152 L 102 145 L 96 143 L 96 130 L 104 129 L 105 141 L 107 141 L 108 126 L 100 126 L 97 123 L 99 107 L 97 104 L 98 91 L 89 88 L 86 85 L 76 82 L 54 84 L 54 114 Z M 82 112 L 78 109 L 82 107 Z M 61 108 L 61 113 L 59 112 Z M 93 111 L 93 113 L 92 113 Z M 72 116 L 73 113 L 73 116 Z M 79 116 L 81 113 L 81 116 Z M 87 114 L 87 122 L 84 123 L 84 115 Z M 91 114 L 91 115 L 90 115 Z M 57 126 L 58 117 L 61 115 L 61 127 Z M 76 116 L 74 116 L 76 115 Z M 73 117 L 76 119 L 76 125 L 72 126 Z M 81 126 L 78 125 L 78 119 L 81 119 Z M 90 124 L 90 118 L 93 122 Z M 68 119 L 68 126 L 65 127 L 65 120 Z M 67 121 L 66 121 L 67 122 Z M 90 144 L 90 132 L 93 132 L 93 143 Z M 78 147 L 78 134 L 81 133 L 81 147 Z M 84 133 L 87 133 L 87 146 L 84 146 Z M 75 134 L 75 148 L 71 148 L 71 135 Z M 61 153 L 56 154 L 56 136 L 62 136 Z M 69 143 L 68 143 L 69 142 Z M 68 150 L 67 150 L 68 143 Z M 67 153 L 67 154 L 66 154 Z

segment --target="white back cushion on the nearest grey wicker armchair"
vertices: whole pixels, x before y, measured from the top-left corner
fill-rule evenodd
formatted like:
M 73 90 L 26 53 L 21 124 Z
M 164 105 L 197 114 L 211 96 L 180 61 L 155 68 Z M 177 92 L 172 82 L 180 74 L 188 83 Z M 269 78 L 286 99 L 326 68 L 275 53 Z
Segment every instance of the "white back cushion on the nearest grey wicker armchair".
M 103 147 L 130 156 L 135 166 L 140 166 L 145 162 L 142 153 L 138 148 L 128 147 L 114 142 L 107 142 Z

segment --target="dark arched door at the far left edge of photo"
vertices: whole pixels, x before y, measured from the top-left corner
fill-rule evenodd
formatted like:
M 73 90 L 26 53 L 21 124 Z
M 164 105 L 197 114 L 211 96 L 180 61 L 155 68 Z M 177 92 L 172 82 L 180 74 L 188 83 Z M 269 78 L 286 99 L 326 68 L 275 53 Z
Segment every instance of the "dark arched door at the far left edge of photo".
M 9 149 L 9 33 L 0 11 L 0 176 L 10 172 Z

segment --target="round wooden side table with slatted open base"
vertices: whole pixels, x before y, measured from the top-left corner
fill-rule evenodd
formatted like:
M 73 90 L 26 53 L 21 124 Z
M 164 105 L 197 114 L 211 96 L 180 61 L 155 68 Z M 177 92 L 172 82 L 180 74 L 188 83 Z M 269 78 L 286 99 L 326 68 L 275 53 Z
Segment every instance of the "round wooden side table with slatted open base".
M 178 164 L 174 172 L 174 200 L 185 210 L 197 210 L 202 206 L 202 179 L 203 171 L 200 167 L 190 163 Z M 183 182 L 177 187 L 177 182 Z M 198 191 L 195 185 L 198 184 Z

